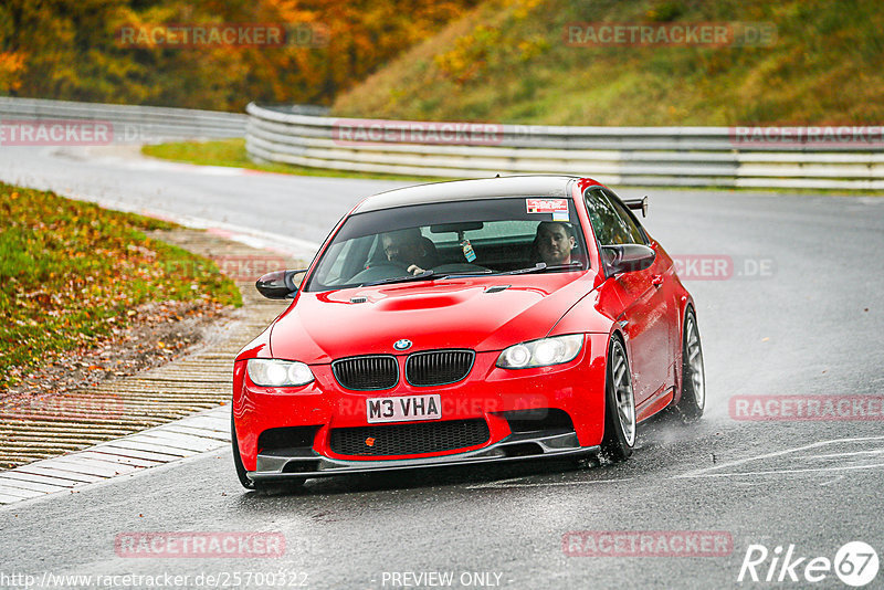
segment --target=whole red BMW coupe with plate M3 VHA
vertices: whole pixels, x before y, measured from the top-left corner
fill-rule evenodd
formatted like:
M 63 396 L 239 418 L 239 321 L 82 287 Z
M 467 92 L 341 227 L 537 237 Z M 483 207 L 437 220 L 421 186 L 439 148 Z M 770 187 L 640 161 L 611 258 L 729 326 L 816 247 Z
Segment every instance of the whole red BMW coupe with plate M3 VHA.
M 293 301 L 235 360 L 242 484 L 622 460 L 657 412 L 698 419 L 694 304 L 633 213 L 646 204 L 560 176 L 364 200 L 309 268 L 257 282 Z

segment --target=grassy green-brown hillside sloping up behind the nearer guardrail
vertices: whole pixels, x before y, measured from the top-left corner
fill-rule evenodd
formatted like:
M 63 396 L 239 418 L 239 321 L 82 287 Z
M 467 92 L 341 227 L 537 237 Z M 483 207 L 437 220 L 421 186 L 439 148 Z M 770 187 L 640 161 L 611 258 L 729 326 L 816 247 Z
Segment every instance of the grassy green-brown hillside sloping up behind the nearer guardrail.
M 769 46 L 572 46 L 570 23 L 772 23 Z M 884 4 L 486 0 L 339 116 L 558 125 L 882 124 Z

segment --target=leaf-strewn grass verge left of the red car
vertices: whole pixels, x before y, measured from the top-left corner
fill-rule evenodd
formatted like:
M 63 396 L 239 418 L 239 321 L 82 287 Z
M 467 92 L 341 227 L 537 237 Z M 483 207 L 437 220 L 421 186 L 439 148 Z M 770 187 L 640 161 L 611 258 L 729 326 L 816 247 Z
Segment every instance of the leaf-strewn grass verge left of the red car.
M 173 228 L 0 182 L 0 390 L 126 329 L 139 306 L 242 305 L 213 262 L 144 233 Z

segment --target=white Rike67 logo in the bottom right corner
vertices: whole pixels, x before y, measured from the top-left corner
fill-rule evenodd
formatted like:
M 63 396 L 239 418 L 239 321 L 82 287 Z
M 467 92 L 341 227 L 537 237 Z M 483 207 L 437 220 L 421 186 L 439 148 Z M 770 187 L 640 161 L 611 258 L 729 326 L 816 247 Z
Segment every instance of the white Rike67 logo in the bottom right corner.
M 772 551 L 764 545 L 749 545 L 737 581 L 815 583 L 831 580 L 834 573 L 845 584 L 861 588 L 877 577 L 877 552 L 863 541 L 845 544 L 835 552 L 834 560 L 802 556 L 794 545 L 785 551 L 781 545 Z

